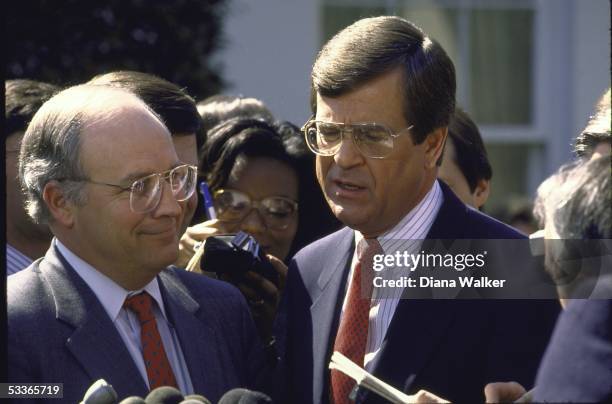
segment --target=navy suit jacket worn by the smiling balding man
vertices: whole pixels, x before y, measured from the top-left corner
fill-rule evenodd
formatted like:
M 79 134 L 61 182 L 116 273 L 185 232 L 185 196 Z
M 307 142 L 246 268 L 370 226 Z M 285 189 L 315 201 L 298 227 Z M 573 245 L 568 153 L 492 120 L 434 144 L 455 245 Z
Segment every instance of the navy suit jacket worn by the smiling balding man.
M 216 402 L 251 387 L 265 368 L 244 298 L 233 286 L 177 268 L 158 281 L 194 391 Z M 97 297 L 57 251 L 8 278 L 10 382 L 64 384 L 64 402 L 79 402 L 103 378 L 119 400 L 148 389 Z

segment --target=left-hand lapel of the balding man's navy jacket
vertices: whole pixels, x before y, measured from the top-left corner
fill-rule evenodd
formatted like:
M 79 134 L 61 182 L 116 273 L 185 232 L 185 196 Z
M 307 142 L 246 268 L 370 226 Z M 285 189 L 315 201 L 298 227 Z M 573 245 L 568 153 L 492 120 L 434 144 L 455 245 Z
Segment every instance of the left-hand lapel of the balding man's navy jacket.
M 58 321 L 74 327 L 66 347 L 92 383 L 106 379 L 119 397 L 146 394 L 146 384 L 111 319 L 56 248 L 53 243 L 40 269 L 53 291 Z

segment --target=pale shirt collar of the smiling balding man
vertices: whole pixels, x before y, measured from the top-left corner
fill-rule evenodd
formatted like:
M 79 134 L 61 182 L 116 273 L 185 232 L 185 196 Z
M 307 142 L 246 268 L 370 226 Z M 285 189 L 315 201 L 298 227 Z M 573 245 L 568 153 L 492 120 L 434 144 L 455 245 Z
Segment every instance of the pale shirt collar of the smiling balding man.
M 168 320 L 164 308 L 161 290 L 157 277 L 139 290 L 125 290 L 123 287 L 116 284 L 108 276 L 96 270 L 93 266 L 83 261 L 80 257 L 68 249 L 61 241 L 55 239 L 57 249 L 68 263 L 74 268 L 76 273 L 85 281 L 87 286 L 94 292 L 104 310 L 113 322 L 117 319 L 119 311 L 123 307 L 126 297 L 133 296 L 142 291 L 147 292 L 157 302 L 162 315 Z

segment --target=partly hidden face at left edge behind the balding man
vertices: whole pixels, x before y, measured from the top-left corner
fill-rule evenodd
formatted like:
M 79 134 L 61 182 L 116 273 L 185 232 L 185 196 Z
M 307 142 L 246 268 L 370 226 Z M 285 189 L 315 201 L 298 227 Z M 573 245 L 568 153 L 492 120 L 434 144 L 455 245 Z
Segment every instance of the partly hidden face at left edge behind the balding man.
M 22 138 L 23 132 L 15 132 L 7 137 L 5 143 L 7 239 L 11 243 L 13 235 L 18 233 L 35 239 L 51 240 L 49 227 L 35 224 L 25 211 L 25 198 L 18 179 L 19 148 Z

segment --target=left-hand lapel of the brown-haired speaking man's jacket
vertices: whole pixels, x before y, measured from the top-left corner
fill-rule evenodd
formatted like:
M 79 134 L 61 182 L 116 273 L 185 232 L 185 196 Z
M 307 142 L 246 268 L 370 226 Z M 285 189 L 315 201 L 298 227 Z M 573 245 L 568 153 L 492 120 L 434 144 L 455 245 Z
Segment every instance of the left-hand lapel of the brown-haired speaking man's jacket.
M 347 272 L 350 269 L 354 249 L 354 233 L 351 229 L 341 232 L 338 238 L 330 242 L 330 255 L 324 262 L 324 267 L 317 281 L 320 294 L 315 297 L 310 308 L 311 318 L 316 319 L 313 324 L 313 375 L 319 377 L 314 380 L 314 386 L 319 391 L 313 392 L 316 401 L 326 402 L 322 395 L 329 383 L 327 366 L 334 347 L 334 338 L 338 328 L 338 319 L 342 307 L 346 285 Z M 335 253 L 334 253 L 335 252 Z

